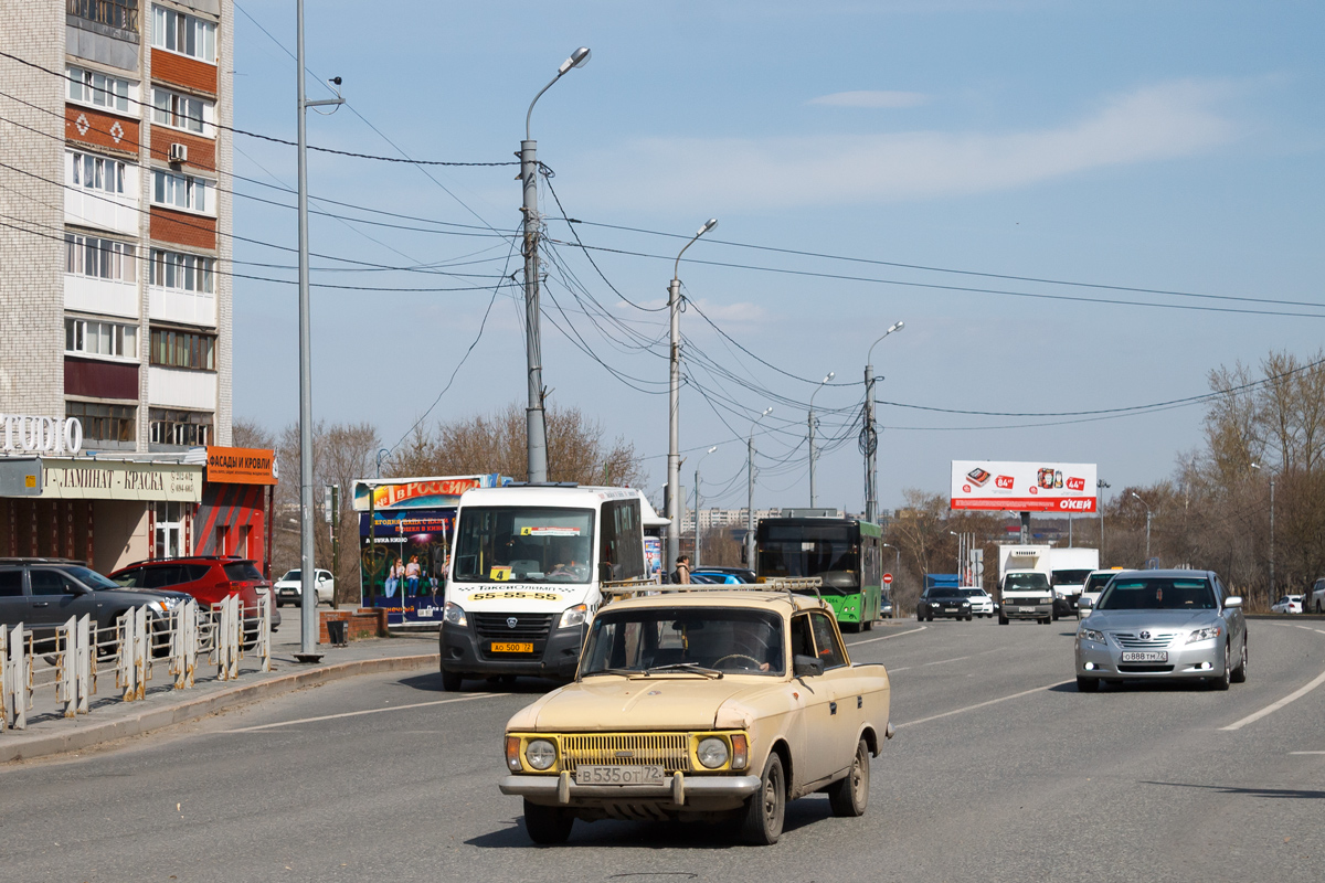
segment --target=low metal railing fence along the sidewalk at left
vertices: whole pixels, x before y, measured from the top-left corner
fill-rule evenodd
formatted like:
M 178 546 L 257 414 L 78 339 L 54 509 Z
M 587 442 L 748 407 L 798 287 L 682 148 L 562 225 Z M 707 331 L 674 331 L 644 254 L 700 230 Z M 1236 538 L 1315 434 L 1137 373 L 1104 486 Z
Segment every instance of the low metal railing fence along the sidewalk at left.
M 111 674 L 119 699 L 136 702 L 158 666 L 174 678 L 175 690 L 195 686 L 200 659 L 216 666 L 217 680 L 238 678 L 246 653 L 257 671 L 272 670 L 269 596 L 258 597 L 256 616 L 245 616 L 236 594 L 211 608 L 191 600 L 156 616 L 150 610 L 131 608 L 103 629 L 86 614 L 70 617 L 42 641 L 23 624 L 0 627 L 0 733 L 26 729 L 44 690 L 53 690 L 65 718 L 89 714 L 98 682 Z

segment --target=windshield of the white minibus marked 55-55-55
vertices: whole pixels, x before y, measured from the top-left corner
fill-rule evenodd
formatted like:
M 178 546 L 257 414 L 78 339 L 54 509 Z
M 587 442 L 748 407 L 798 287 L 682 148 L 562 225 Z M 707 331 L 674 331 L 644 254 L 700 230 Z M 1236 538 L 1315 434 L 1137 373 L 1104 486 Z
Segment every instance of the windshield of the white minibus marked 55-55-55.
M 452 579 L 458 582 L 588 582 L 594 510 L 468 507 L 456 526 Z

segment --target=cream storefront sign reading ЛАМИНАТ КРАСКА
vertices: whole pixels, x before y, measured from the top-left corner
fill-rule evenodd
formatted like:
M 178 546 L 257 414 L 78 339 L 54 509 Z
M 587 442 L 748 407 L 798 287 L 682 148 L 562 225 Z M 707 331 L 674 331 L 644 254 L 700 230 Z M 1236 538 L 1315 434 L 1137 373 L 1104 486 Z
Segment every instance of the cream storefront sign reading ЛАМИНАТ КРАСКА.
M 44 466 L 42 499 L 203 499 L 201 466 L 97 459 L 46 459 Z

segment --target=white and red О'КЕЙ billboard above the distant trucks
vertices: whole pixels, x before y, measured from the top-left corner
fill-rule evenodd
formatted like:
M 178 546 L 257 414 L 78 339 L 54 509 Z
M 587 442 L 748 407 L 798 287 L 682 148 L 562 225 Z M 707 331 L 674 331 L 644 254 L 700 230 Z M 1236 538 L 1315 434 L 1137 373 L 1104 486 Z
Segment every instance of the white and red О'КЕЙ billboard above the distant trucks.
M 954 459 L 951 508 L 1094 512 L 1094 463 Z

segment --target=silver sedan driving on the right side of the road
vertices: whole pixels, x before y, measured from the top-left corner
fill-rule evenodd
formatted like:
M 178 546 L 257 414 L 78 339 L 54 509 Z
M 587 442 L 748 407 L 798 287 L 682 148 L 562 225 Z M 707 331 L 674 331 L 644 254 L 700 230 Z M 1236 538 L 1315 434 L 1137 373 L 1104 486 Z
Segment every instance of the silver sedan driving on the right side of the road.
M 1247 679 L 1247 621 L 1212 571 L 1128 571 L 1105 586 L 1076 634 L 1077 690 L 1100 680 Z

